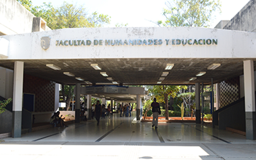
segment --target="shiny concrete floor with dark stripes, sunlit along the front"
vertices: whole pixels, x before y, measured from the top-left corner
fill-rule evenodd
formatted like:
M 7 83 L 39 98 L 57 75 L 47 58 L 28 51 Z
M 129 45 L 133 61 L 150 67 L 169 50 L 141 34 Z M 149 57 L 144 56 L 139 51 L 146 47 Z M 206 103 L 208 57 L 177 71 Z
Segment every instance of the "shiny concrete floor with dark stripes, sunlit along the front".
M 151 123 L 132 117 L 74 123 L 6 138 L 0 143 L 1 159 L 91 160 L 251 160 L 256 159 L 256 141 L 226 130 L 195 123 Z

